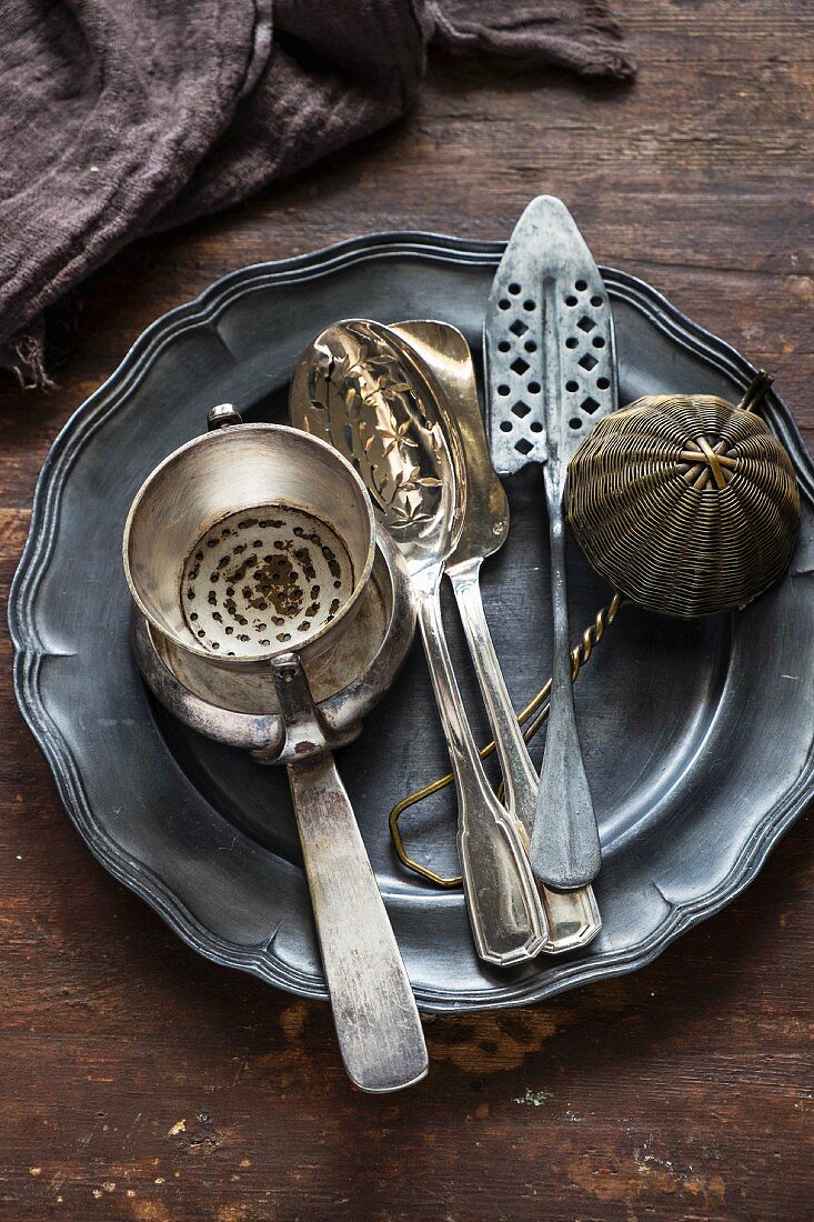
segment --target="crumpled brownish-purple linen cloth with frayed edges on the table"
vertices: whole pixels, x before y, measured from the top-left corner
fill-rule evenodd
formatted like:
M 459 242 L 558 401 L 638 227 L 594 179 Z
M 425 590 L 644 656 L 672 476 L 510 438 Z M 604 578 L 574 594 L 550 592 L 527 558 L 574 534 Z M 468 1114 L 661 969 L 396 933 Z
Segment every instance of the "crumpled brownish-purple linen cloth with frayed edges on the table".
M 601 0 L 2 0 L 0 364 L 46 384 L 48 306 L 391 122 L 430 39 L 634 72 Z

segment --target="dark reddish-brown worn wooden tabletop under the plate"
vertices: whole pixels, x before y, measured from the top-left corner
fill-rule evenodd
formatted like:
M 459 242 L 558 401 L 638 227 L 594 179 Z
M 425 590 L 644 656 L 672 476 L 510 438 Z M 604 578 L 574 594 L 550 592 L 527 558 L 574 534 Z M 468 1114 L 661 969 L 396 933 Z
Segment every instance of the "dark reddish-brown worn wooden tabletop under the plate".
M 363 231 L 505 237 L 541 191 L 604 263 L 775 371 L 810 442 L 814 13 L 618 7 L 634 86 L 433 56 L 397 128 L 95 275 L 60 390 L 0 382 L 4 589 L 54 435 L 158 314 Z M 0 1217 L 814 1216 L 810 816 L 647 970 L 439 1019 L 430 1078 L 376 1100 L 350 1088 L 326 1006 L 196 958 L 92 859 L 9 684 L 0 719 Z

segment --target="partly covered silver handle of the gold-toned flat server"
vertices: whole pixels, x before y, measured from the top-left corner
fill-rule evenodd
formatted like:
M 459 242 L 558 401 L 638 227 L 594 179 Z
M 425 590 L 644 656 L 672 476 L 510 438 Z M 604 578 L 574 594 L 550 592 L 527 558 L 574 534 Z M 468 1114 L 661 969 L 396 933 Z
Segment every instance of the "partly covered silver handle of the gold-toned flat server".
M 510 816 L 519 820 L 528 838 L 534 829 L 539 780 L 523 741 L 511 697 L 500 668 L 480 596 L 480 557 L 447 567 L 461 622 L 480 683 L 489 725 L 504 774 L 505 804 Z M 549 891 L 541 882 L 538 891 L 545 912 L 549 937 L 543 949 L 562 954 L 587 946 L 601 929 L 599 908 L 592 887 L 577 891 Z

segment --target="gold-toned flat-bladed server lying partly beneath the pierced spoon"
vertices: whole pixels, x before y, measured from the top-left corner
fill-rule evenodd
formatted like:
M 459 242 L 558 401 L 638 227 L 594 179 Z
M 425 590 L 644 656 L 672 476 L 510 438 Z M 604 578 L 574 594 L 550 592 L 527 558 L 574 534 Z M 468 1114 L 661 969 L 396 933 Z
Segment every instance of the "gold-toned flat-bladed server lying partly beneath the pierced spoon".
M 483 561 L 502 547 L 508 534 L 508 501 L 489 457 L 472 353 L 461 331 L 449 323 L 398 323 L 389 330 L 403 337 L 433 371 L 440 390 L 438 413 L 445 417 L 447 433 L 457 429 L 461 435 L 467 500 L 461 536 L 446 561 L 445 572 L 455 591 L 489 714 L 504 775 L 505 805 L 530 840 L 539 780 L 515 715 L 480 596 Z M 538 890 L 549 927 L 545 952 L 573 951 L 596 936 L 601 919 L 590 886 L 563 892 L 540 885 Z

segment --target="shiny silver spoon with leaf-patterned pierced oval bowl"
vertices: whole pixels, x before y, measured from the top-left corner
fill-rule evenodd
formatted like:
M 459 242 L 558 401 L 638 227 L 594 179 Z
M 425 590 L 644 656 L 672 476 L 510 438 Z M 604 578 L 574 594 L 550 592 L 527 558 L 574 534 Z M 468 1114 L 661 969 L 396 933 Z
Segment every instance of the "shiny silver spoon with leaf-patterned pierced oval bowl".
M 545 916 L 517 821 L 478 756 L 444 633 L 439 590 L 461 534 L 463 497 L 433 402 L 420 367 L 387 329 L 353 320 L 323 331 L 303 354 L 291 419 L 354 463 L 407 562 L 456 777 L 458 854 L 475 947 L 486 962 L 508 965 L 539 953 Z

